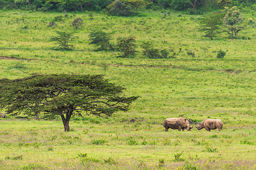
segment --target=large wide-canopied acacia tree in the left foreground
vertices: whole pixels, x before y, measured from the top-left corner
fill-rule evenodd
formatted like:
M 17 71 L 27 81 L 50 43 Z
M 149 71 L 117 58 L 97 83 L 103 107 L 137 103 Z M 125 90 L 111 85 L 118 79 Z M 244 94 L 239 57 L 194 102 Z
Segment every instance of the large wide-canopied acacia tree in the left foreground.
M 60 116 L 64 130 L 74 114 L 112 116 L 128 111 L 137 96 L 125 97 L 121 86 L 115 86 L 103 75 L 32 75 L 27 78 L 0 79 L 0 108 L 7 114 L 28 116 L 36 112 L 46 118 Z

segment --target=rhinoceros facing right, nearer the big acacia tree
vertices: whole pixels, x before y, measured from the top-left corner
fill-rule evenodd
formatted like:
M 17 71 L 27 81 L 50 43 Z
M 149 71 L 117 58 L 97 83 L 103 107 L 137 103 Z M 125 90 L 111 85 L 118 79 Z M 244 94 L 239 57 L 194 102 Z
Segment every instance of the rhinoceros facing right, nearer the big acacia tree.
M 184 117 L 179 117 L 179 118 L 167 118 L 164 123 L 163 123 L 164 128 L 168 131 L 169 128 L 171 129 L 177 129 L 177 130 L 191 130 L 191 126 L 189 125 L 189 122 L 186 118 Z

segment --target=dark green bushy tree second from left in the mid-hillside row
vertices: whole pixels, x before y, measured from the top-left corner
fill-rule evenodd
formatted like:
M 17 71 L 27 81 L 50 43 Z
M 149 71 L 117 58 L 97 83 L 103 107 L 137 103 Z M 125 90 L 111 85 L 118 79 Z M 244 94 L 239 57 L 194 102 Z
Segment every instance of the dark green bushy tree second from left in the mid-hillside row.
M 111 33 L 106 33 L 104 31 L 93 31 L 90 32 L 89 39 L 90 43 L 89 44 L 94 44 L 97 47 L 97 51 L 102 51 L 102 50 L 110 50 L 113 49 L 112 44 L 110 44 L 111 40 Z

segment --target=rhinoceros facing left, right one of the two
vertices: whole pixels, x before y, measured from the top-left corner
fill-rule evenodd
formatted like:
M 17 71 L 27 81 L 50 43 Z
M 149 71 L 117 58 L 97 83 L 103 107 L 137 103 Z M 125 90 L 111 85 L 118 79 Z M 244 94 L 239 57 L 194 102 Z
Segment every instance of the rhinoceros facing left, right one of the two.
M 210 119 L 207 118 L 203 120 L 201 123 L 197 122 L 196 129 L 201 130 L 205 128 L 207 131 L 218 129 L 218 131 L 221 131 L 223 127 L 223 122 L 220 119 Z

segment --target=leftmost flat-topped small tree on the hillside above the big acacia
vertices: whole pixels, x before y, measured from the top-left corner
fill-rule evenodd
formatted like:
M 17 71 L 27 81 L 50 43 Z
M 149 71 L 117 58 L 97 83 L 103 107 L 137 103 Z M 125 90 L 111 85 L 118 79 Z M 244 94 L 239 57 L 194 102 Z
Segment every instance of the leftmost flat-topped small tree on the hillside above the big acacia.
M 50 41 L 55 41 L 55 44 L 59 45 L 60 49 L 71 50 L 73 48 L 73 44 L 78 37 L 74 36 L 73 32 L 65 32 L 65 31 L 56 31 L 57 36 L 51 36 Z

